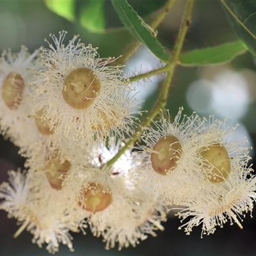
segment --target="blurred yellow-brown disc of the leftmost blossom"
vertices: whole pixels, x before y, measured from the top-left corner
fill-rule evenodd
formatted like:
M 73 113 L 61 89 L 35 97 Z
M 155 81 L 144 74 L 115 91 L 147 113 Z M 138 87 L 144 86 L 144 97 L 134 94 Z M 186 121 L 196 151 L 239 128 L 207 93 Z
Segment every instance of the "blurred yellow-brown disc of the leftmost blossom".
M 17 109 L 22 99 L 24 80 L 22 76 L 11 72 L 5 77 L 2 88 L 2 98 L 10 109 Z

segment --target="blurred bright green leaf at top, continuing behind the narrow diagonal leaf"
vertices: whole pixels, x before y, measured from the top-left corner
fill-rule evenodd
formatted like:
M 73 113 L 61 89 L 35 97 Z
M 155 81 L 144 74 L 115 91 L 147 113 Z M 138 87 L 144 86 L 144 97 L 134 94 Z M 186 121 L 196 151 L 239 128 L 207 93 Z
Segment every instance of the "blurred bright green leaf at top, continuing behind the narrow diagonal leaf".
M 129 0 L 132 7 L 141 17 L 148 17 L 150 13 L 163 7 L 167 0 Z M 68 19 L 93 33 L 106 33 L 123 29 L 111 1 L 109 0 L 45 0 L 46 6 L 52 12 Z

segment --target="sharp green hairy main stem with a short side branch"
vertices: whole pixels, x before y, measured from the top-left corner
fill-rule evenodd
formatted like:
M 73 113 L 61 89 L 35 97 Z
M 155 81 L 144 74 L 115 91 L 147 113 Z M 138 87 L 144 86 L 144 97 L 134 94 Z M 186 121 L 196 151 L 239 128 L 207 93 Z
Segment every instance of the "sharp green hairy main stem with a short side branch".
M 154 74 L 159 74 L 159 70 L 162 72 L 167 72 L 166 79 L 164 80 L 163 87 L 161 89 L 161 92 L 159 93 L 159 97 L 154 104 L 152 110 L 148 113 L 148 117 L 141 122 L 141 125 L 138 127 L 134 135 L 131 137 L 127 143 L 125 143 L 124 147 L 121 148 L 116 155 L 106 163 L 106 166 L 110 166 L 111 164 L 115 163 L 115 161 L 124 154 L 125 150 L 127 150 L 140 136 L 140 132 L 143 131 L 143 127 L 146 127 L 150 122 L 152 122 L 152 119 L 156 117 L 158 113 L 160 113 L 160 109 L 164 109 L 166 106 L 167 98 L 168 98 L 168 92 L 170 90 L 171 82 L 173 73 L 175 70 L 175 67 L 179 64 L 179 56 L 180 51 L 182 49 L 182 46 L 184 44 L 185 36 L 188 31 L 189 24 L 191 22 L 191 13 L 193 9 L 194 0 L 188 0 L 186 4 L 186 8 L 184 11 L 184 15 L 182 17 L 182 22 L 180 24 L 179 34 L 177 36 L 177 40 L 175 42 L 175 45 L 173 47 L 173 55 L 170 61 L 166 66 L 163 68 L 159 68 L 158 70 L 152 70 L 148 73 L 145 73 L 147 76 L 143 76 L 144 74 L 140 74 L 135 77 L 131 77 L 130 81 L 137 81 L 138 77 L 140 79 L 143 79 L 148 76 L 153 76 Z M 164 71 L 163 71 L 164 70 Z

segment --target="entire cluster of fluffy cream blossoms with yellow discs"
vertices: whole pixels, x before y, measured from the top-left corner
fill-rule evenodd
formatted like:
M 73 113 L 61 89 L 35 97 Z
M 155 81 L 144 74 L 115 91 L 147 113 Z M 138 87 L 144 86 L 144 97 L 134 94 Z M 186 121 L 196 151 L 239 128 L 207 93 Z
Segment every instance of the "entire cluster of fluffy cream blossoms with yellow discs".
M 90 230 L 106 248 L 136 246 L 163 230 L 173 205 L 186 233 L 202 224 L 211 234 L 229 219 L 252 211 L 256 177 L 249 149 L 228 137 L 234 129 L 196 113 L 140 127 L 134 88 L 99 58 L 97 49 L 65 32 L 54 44 L 29 54 L 3 52 L 0 59 L 1 134 L 26 157 L 26 171 L 11 170 L 0 186 L 0 208 L 21 223 L 33 243 L 72 250 L 68 233 Z M 164 115 L 163 115 L 164 116 Z M 136 130 L 137 129 L 137 130 Z M 138 132 L 140 131 L 140 132 Z M 141 145 L 108 161 L 138 132 Z

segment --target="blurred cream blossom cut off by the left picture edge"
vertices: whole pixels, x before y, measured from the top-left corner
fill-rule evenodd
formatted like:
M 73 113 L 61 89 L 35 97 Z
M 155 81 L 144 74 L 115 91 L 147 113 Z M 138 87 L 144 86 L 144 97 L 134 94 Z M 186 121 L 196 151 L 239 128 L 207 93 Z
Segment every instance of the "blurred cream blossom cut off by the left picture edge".
M 2 134 L 8 133 L 13 143 L 22 136 L 22 132 L 30 125 L 31 87 L 34 79 L 33 70 L 38 70 L 38 50 L 29 54 L 28 49 L 21 47 L 19 53 L 4 51 L 0 58 L 0 124 Z

